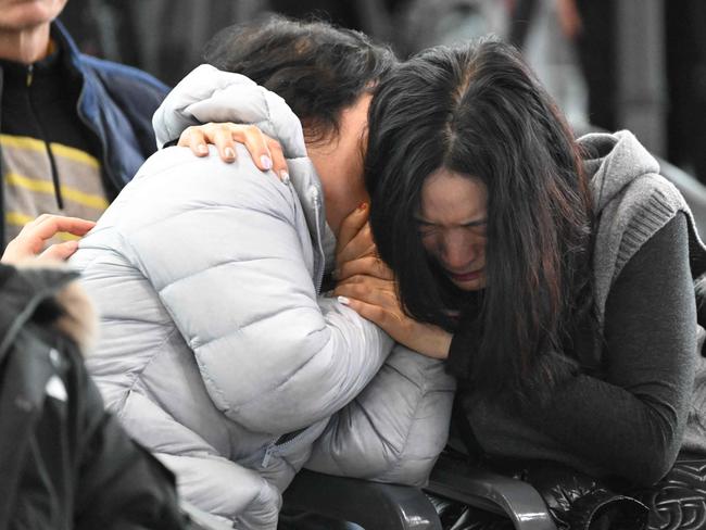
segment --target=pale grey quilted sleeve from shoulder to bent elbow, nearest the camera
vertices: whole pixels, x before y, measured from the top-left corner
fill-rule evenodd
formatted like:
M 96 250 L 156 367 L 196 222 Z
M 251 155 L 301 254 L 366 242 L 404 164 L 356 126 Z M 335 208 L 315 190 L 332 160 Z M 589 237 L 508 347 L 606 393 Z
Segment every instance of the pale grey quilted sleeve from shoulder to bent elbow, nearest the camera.
M 234 166 L 180 148 L 155 156 L 174 164 L 130 185 L 121 231 L 193 350 L 213 402 L 248 429 L 273 433 L 343 407 L 378 371 L 391 340 L 317 299 L 292 187 L 263 175 L 244 149 Z

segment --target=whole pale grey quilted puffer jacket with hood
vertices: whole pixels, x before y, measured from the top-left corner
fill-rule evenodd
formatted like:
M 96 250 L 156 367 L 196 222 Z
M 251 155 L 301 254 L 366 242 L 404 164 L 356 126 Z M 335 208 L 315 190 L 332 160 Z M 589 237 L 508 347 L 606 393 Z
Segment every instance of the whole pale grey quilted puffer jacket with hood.
M 281 142 L 290 185 L 240 147 L 235 164 L 164 149 L 72 258 L 101 312 L 88 366 L 108 406 L 181 494 L 237 528 L 276 527 L 280 493 L 319 437 L 318 470 L 424 483 L 445 441 L 452 379 L 401 346 L 390 355 L 386 333 L 319 295 L 335 241 L 281 98 L 203 65 L 154 126 L 162 144 L 228 121 Z

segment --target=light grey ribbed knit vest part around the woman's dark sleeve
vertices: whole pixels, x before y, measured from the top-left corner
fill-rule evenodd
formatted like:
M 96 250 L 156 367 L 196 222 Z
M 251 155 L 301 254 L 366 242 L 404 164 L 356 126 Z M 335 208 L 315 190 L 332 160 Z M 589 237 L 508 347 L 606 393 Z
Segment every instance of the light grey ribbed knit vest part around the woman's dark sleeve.
M 658 175 L 659 165 L 631 132 L 587 135 L 579 143 L 587 152 L 596 154 L 595 159 L 587 161 L 587 169 L 595 169 L 591 186 L 600 214 L 594 250 L 594 293 L 602 329 L 610 288 L 623 266 L 677 214 L 682 212 L 688 218 L 689 261 L 694 279 L 706 274 L 706 247 L 683 197 Z M 701 352 L 706 332 L 698 327 L 697 333 Z M 697 358 L 683 447 L 706 453 L 706 358 L 703 356 Z

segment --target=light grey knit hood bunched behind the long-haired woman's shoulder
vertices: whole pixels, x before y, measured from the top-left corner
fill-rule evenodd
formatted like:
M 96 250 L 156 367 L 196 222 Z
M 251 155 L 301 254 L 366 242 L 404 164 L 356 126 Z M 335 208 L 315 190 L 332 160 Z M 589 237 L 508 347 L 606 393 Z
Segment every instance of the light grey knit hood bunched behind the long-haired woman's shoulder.
M 628 130 L 593 132 L 578 139 L 590 178 L 595 213 L 603 211 L 626 186 L 647 174 L 658 174 L 655 157 Z

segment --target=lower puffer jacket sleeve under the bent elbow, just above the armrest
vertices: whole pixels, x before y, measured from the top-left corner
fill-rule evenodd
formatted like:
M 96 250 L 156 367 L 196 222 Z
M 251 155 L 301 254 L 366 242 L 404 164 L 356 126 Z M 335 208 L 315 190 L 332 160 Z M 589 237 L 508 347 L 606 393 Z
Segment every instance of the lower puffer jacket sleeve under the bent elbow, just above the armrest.
M 306 467 L 426 484 L 446 443 L 454 390 L 455 379 L 442 361 L 398 344 L 365 390 L 331 418 Z

